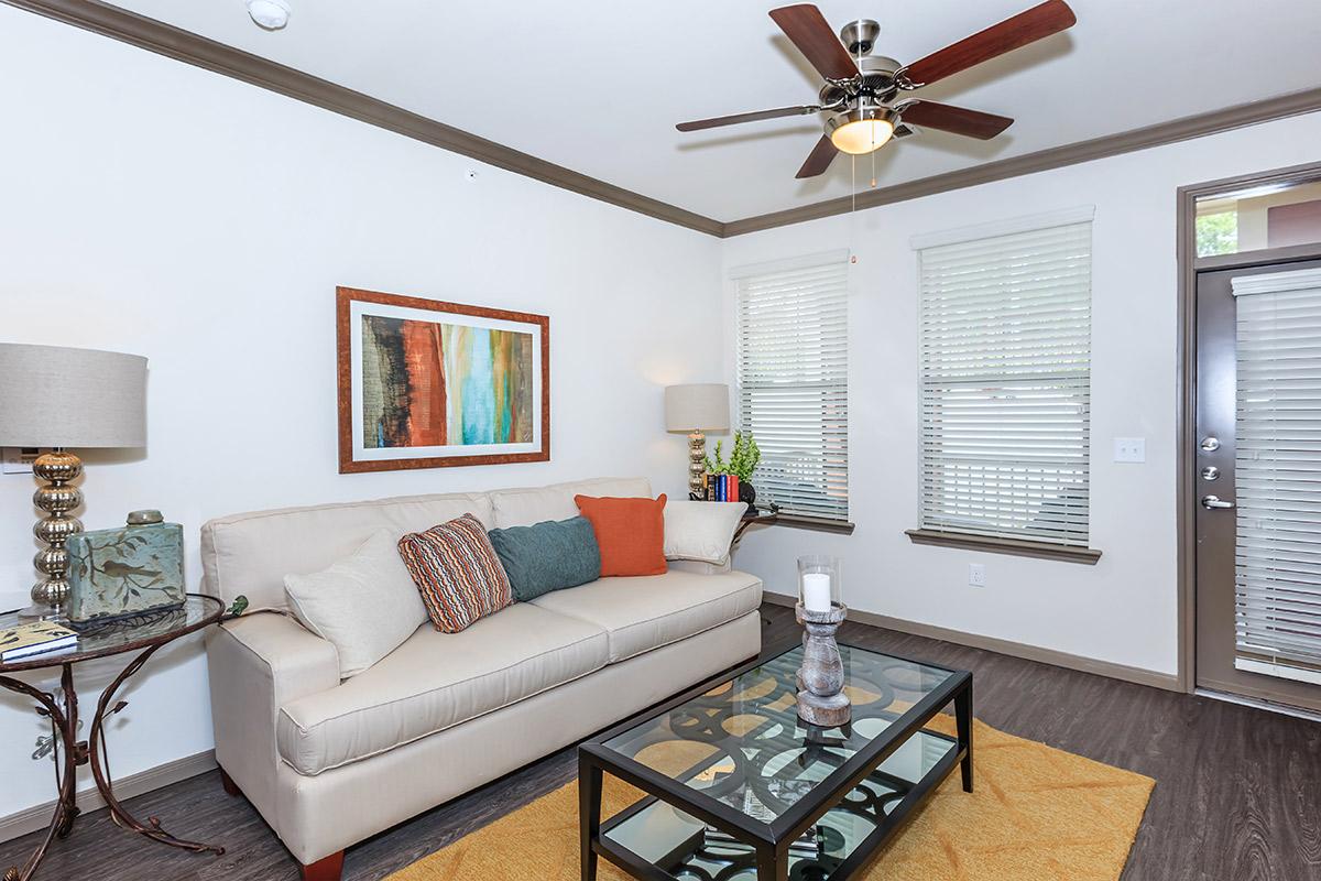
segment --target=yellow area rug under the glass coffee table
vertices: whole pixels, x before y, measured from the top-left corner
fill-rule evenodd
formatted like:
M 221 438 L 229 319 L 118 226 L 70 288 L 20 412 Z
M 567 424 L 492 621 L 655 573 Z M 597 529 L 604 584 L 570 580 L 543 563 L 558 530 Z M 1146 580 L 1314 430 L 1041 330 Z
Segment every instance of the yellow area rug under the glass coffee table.
M 935 730 L 954 720 L 937 716 Z M 1156 785 L 1149 777 L 999 732 L 974 730 L 974 789 L 959 771 L 890 839 L 868 881 L 1116 881 Z M 642 793 L 605 777 L 602 816 Z M 390 876 L 390 881 L 579 881 L 577 783 Z M 627 881 L 606 859 L 601 881 Z

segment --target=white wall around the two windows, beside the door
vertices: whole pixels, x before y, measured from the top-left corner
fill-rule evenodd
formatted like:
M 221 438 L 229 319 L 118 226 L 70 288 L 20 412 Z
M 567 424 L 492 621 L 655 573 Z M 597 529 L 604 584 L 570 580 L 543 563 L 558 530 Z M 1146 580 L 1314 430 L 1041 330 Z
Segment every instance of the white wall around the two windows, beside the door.
M 1176 189 L 1316 160 L 1321 114 L 725 242 L 731 267 L 852 248 L 852 536 L 771 527 L 736 564 L 795 592 L 801 553 L 844 560 L 851 606 L 966 633 L 1173 674 L 1176 593 Z M 923 149 L 906 141 L 897 149 Z M 865 181 L 860 177 L 860 186 Z M 1095 567 L 914 546 L 918 526 L 914 234 L 1094 205 L 1091 546 Z M 725 322 L 733 338 L 733 285 Z M 732 353 L 727 370 L 733 372 Z M 1112 462 L 1116 436 L 1147 462 Z M 987 565 L 970 588 L 967 564 Z

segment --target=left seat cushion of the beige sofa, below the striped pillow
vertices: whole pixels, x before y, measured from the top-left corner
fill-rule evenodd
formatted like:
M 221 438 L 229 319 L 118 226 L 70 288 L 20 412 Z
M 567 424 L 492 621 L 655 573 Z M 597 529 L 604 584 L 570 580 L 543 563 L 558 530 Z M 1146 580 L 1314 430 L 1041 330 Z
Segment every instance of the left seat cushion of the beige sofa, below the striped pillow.
M 531 604 L 462 633 L 423 626 L 370 670 L 281 707 L 280 757 L 320 774 L 585 676 L 608 655 L 600 627 Z

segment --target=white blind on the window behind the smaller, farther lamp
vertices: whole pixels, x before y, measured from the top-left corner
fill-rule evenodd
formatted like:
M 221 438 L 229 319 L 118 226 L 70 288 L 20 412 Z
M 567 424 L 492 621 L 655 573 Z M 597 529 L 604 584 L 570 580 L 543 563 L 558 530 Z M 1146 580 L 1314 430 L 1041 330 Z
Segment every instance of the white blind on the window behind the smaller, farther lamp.
M 750 267 L 738 285 L 738 423 L 758 502 L 848 519 L 848 255 Z

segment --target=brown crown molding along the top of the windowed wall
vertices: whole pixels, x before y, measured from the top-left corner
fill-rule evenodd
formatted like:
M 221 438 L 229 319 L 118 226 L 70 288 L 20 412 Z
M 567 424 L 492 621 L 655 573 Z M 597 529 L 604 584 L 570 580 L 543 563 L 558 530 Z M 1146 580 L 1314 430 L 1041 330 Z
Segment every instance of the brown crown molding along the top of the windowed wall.
M 1273 119 L 1284 119 L 1285 116 L 1310 114 L 1317 110 L 1321 110 L 1321 88 L 1308 88 L 1305 91 L 1289 92 L 1288 95 L 1215 110 L 1209 114 L 1184 116 L 1168 123 L 1147 125 L 1145 128 L 1133 128 L 1118 135 L 1106 135 L 1103 137 L 1078 141 L 1077 144 L 1052 147 L 1036 153 L 1003 159 L 971 168 L 960 168 L 955 172 L 923 177 L 917 181 L 885 186 L 878 190 L 865 190 L 857 194 L 856 206 L 861 210 L 905 202 L 923 195 L 935 195 L 937 193 L 978 186 L 979 184 L 989 184 L 1053 168 L 1132 153 L 1133 151 L 1149 147 L 1174 144 L 1205 135 L 1267 123 Z M 756 232 L 758 230 L 770 230 L 777 226 L 802 223 L 804 221 L 816 221 L 836 214 L 848 214 L 853 210 L 853 206 L 855 197 L 844 195 L 826 202 L 815 202 L 783 211 L 749 217 L 742 221 L 731 221 L 724 225 L 724 238 Z

